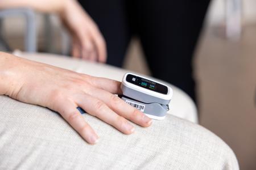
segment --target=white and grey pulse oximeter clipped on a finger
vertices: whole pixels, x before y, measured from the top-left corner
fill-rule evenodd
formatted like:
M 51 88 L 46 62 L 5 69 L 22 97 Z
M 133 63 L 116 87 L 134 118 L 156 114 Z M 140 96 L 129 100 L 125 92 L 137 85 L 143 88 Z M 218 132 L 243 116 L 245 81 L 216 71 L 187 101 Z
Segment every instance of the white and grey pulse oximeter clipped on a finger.
M 141 75 L 126 73 L 121 85 L 121 97 L 148 117 L 163 120 L 169 110 L 172 88 Z

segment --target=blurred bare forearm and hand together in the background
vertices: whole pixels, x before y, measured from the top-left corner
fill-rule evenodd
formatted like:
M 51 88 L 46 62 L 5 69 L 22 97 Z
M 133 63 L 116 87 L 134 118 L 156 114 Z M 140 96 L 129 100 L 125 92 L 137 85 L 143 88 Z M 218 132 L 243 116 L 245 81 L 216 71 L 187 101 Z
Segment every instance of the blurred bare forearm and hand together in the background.
M 106 43 L 97 25 L 75 0 L 5 0 L 0 9 L 28 7 L 55 13 L 72 36 L 72 56 L 93 62 L 106 62 Z

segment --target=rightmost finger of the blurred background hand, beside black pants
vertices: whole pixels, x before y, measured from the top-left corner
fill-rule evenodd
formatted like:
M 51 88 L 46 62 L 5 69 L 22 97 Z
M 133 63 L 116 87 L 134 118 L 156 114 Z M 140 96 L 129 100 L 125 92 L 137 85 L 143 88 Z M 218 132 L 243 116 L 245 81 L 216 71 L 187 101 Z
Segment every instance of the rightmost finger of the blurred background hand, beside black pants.
M 92 32 L 92 39 L 97 50 L 98 61 L 106 62 L 107 50 L 106 50 L 106 42 L 104 40 L 104 37 L 101 35 L 97 27 L 96 28 L 93 27 L 91 29 L 91 32 Z

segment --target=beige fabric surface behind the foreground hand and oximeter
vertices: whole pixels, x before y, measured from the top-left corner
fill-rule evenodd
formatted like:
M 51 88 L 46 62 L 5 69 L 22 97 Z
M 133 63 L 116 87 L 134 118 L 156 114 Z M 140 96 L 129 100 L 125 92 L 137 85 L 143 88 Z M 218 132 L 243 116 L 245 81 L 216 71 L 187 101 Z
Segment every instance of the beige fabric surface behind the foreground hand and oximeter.
M 105 78 L 115 79 L 118 81 L 122 80 L 122 77 L 125 73 L 130 72 L 128 70 L 119 69 L 117 67 L 109 65 L 91 63 L 53 54 L 28 54 L 18 51 L 14 52 L 14 54 L 16 56 L 38 62 L 48 63 L 50 65 L 58 67 L 63 67 L 65 69 L 77 71 L 79 73 L 89 74 L 93 76 L 101 76 Z M 172 97 L 170 103 L 170 111 L 168 113 L 197 123 L 197 110 L 191 98 L 179 88 L 172 86 L 171 84 L 170 86 L 174 90 L 174 96 Z

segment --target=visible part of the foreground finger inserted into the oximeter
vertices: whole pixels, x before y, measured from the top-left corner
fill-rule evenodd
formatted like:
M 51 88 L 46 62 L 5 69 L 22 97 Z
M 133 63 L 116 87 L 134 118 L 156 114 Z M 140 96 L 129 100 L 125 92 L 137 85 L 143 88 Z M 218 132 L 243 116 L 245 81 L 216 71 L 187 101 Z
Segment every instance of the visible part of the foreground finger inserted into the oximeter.
M 112 94 L 122 94 L 121 82 L 118 82 L 117 80 L 92 76 L 90 77 L 90 83 L 93 87 L 100 88 Z

